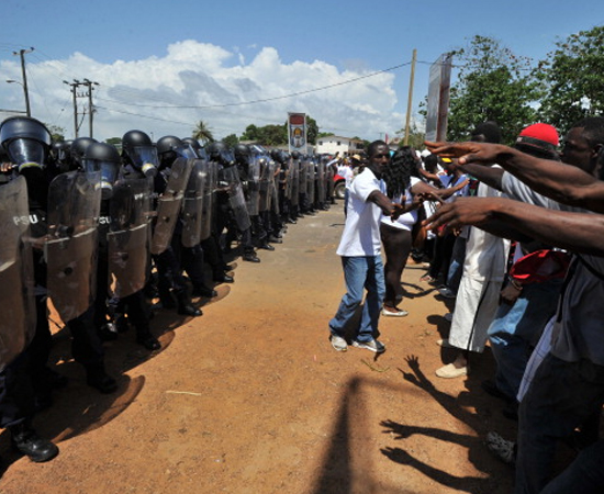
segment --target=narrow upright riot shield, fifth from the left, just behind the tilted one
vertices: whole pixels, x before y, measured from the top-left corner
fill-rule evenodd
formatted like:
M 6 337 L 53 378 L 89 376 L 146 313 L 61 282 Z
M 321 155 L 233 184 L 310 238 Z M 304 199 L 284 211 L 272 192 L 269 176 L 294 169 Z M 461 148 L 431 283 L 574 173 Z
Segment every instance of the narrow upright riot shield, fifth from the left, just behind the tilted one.
M 203 194 L 208 179 L 208 165 L 195 159 L 182 200 L 182 245 L 194 247 L 201 242 Z

